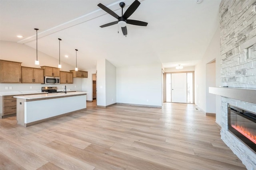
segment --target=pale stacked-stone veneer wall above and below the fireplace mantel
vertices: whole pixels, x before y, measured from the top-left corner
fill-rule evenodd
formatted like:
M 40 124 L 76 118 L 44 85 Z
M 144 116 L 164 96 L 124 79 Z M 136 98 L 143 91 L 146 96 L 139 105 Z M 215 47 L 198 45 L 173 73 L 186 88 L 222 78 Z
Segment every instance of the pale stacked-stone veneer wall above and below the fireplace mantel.
M 256 0 L 220 3 L 222 86 L 256 90 Z M 252 46 L 252 55 L 246 49 Z M 222 97 L 221 138 L 248 170 L 256 170 L 256 153 L 228 131 L 228 103 L 256 113 L 254 104 Z

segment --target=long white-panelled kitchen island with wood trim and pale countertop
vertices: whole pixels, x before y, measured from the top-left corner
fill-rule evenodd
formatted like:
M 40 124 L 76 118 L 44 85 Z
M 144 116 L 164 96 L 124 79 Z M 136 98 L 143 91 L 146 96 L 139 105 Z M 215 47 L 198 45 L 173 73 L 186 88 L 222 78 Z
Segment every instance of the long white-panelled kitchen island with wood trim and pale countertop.
M 17 98 L 17 121 L 28 127 L 86 109 L 87 92 L 68 92 L 14 96 Z

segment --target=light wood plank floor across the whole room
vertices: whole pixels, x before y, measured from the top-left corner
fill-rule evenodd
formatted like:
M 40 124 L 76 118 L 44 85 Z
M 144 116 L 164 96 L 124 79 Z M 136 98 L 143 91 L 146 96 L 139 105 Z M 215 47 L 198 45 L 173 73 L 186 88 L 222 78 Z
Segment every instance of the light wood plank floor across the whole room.
M 193 104 L 96 107 L 21 127 L 0 120 L 2 170 L 243 170 Z

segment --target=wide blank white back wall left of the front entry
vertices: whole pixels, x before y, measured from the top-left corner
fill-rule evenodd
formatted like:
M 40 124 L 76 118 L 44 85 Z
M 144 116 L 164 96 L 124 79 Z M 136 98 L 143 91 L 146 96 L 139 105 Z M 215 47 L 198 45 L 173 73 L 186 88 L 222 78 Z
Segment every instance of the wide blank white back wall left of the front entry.
M 116 102 L 162 107 L 161 64 L 117 67 Z

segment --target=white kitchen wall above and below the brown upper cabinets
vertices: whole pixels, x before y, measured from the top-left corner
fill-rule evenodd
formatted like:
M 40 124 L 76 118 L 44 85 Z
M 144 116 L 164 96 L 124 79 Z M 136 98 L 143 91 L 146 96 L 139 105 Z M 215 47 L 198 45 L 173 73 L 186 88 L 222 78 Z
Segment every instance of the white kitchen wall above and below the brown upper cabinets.
M 38 51 L 38 60 L 40 61 L 40 65 L 35 65 L 34 62 L 36 60 L 36 49 L 33 49 L 27 45 L 10 42 L 10 41 L 0 41 L 0 59 L 8 60 L 8 61 L 17 61 L 22 62 L 21 66 L 28 66 L 34 68 L 41 68 L 40 66 L 53 66 L 58 67 L 58 59 L 46 55 L 40 51 Z M 74 70 L 73 66 L 70 66 L 66 63 L 61 63 L 62 68 L 61 71 Z M 27 83 L 1 83 L 0 91 L 28 91 L 28 90 L 39 90 L 41 91 L 41 87 L 43 86 L 57 86 L 58 89 L 64 89 L 63 86 L 67 86 L 67 89 L 70 90 L 82 90 L 82 79 L 74 78 L 73 84 L 27 84 Z M 5 87 L 12 87 L 12 90 L 6 90 Z M 32 88 L 30 88 L 32 87 Z

